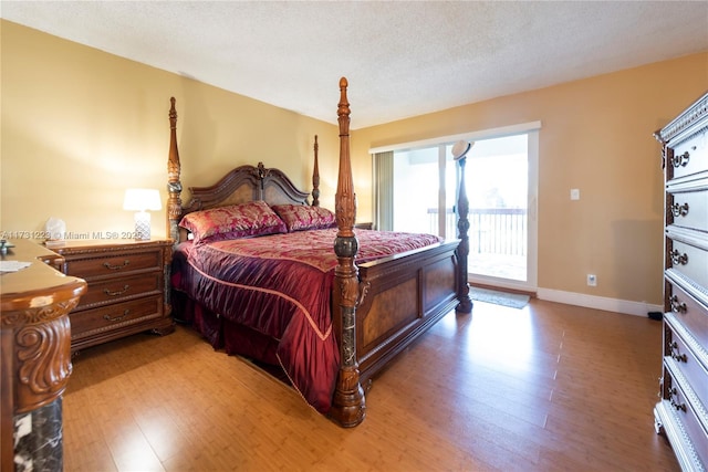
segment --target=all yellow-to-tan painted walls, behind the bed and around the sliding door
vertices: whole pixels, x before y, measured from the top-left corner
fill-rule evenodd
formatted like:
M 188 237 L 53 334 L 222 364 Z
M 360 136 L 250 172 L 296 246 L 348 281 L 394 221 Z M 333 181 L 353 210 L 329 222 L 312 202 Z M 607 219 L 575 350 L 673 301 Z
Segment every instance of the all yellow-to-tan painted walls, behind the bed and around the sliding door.
M 167 196 L 170 96 L 185 187 L 262 160 L 309 190 L 317 134 L 321 199 L 333 208 L 334 125 L 4 20 L 0 28 L 0 230 L 41 230 L 49 217 L 74 232 L 132 230 L 126 187 Z M 337 81 L 322 97 L 333 111 Z M 363 129 L 352 103 L 357 220 L 372 219 L 369 148 L 541 120 L 539 287 L 660 304 L 662 171 L 652 132 L 707 87 L 702 53 Z M 570 201 L 571 188 L 580 201 Z M 155 235 L 165 234 L 164 219 L 154 212 Z M 585 285 L 589 272 L 595 289 Z

